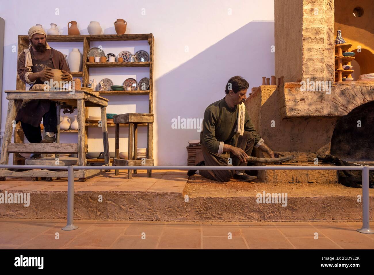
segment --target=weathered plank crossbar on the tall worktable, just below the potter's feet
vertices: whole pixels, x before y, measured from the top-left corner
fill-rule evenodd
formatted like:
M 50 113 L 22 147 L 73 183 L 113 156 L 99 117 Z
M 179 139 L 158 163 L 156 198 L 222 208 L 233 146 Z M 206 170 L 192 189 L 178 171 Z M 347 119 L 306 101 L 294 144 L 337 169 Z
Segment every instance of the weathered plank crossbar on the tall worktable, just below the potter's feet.
M 78 153 L 78 143 L 9 143 L 9 153 Z

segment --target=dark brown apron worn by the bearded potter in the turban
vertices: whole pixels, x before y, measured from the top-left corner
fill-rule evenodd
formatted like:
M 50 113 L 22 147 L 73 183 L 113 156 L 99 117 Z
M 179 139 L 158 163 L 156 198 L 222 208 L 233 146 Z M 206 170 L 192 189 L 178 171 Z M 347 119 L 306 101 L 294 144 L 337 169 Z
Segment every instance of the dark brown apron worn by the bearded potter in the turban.
M 32 72 L 37 73 L 42 71 L 45 67 L 54 69 L 52 63 L 52 51 L 50 51 L 49 59 L 46 61 L 40 61 L 34 58 L 33 48 L 30 48 L 31 59 L 33 60 Z M 37 79 L 34 84 L 43 84 L 41 80 Z M 32 86 L 30 87 L 30 89 Z M 30 90 L 29 89 L 29 90 Z M 21 120 L 23 123 L 28 123 L 34 127 L 38 127 L 42 122 L 42 117 L 49 111 L 51 102 L 49 100 L 31 100 L 25 106 L 22 105 L 23 100 L 16 100 L 16 122 Z

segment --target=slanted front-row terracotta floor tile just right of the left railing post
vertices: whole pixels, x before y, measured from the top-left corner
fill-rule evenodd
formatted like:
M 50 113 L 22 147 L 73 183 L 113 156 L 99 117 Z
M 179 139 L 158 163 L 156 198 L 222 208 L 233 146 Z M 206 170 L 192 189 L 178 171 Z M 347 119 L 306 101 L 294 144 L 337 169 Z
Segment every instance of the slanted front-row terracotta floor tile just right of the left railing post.
M 73 230 L 74 231 L 74 230 Z M 64 248 L 100 247 L 108 248 L 123 232 L 121 227 L 91 226 Z

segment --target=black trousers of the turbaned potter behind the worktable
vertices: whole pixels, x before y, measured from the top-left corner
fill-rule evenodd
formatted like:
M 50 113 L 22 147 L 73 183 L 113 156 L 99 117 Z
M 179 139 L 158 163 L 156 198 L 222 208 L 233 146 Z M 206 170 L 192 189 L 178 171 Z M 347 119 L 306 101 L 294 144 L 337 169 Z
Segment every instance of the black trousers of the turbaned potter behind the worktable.
M 43 125 L 45 132 L 57 132 L 57 111 L 56 103 L 50 103 L 49 111 L 43 116 Z M 42 133 L 40 132 L 40 125 L 34 127 L 31 124 L 24 123 L 21 121 L 22 130 L 25 137 L 30 143 L 40 143 L 42 141 Z

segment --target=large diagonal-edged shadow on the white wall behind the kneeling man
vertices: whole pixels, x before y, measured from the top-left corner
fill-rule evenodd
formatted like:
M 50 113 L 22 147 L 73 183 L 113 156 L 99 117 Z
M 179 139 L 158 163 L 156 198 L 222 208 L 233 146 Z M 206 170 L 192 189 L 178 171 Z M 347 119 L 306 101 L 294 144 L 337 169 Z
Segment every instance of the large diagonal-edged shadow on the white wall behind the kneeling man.
M 244 77 L 248 92 L 260 86 L 262 76 L 274 74 L 272 45 L 274 22 L 249 22 L 155 81 L 158 165 L 186 165 L 187 141 L 200 138 L 200 129 L 172 129 L 172 119 L 201 121 L 206 107 L 224 97 L 232 76 Z

